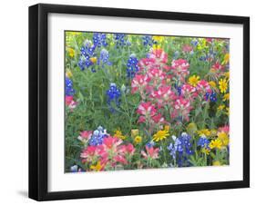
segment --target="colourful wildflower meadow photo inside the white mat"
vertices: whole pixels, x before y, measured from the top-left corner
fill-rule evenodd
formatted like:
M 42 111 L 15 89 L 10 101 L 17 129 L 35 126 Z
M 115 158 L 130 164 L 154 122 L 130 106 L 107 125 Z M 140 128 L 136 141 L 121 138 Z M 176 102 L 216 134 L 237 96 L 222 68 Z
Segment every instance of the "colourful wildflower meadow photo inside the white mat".
M 229 165 L 229 39 L 65 36 L 66 172 Z

